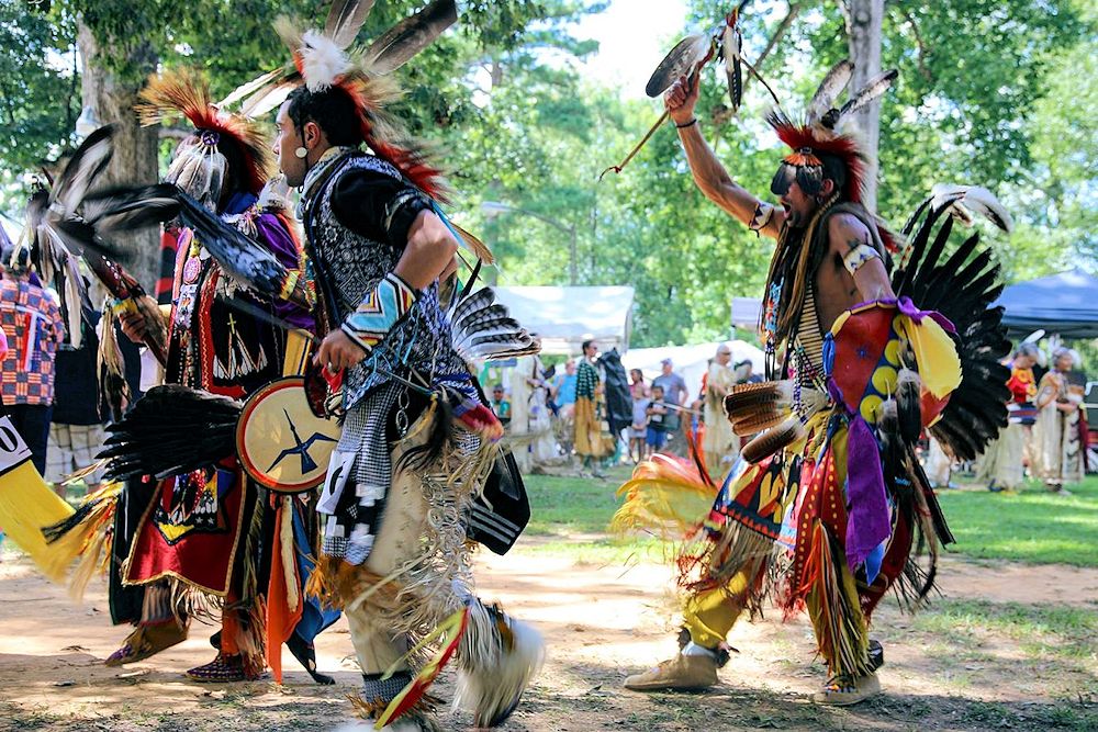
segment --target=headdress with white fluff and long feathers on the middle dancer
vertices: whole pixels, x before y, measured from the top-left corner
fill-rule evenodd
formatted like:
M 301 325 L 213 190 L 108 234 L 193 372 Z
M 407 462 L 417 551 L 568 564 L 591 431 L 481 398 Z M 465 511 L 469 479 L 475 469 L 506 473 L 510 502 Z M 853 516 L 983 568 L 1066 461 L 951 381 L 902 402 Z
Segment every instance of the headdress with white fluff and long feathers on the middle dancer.
M 400 95 L 395 82 L 385 75 L 456 22 L 457 5 L 453 0 L 436 0 L 394 25 L 365 50 L 348 53 L 372 7 L 373 2 L 367 0 L 335 0 L 323 32 L 303 31 L 300 23 L 279 19 L 276 30 L 293 54 L 293 70 L 266 74 L 229 99 L 244 99 L 242 113 L 257 116 L 281 104 L 302 85 L 311 93 L 339 90 L 354 103 L 362 139 L 370 149 L 425 193 L 444 200 L 446 184 L 439 168 L 422 145 L 384 112 L 385 105 Z

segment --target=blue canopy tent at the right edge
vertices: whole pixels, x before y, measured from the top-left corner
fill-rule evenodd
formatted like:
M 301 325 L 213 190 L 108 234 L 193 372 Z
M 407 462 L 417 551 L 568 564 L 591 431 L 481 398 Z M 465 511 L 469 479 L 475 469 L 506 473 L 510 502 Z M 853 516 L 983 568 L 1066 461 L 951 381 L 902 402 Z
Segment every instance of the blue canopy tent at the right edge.
M 996 305 L 1006 308 L 1002 324 L 1015 339 L 1040 328 L 1064 338 L 1098 338 L 1098 278 L 1082 270 L 1012 284 Z

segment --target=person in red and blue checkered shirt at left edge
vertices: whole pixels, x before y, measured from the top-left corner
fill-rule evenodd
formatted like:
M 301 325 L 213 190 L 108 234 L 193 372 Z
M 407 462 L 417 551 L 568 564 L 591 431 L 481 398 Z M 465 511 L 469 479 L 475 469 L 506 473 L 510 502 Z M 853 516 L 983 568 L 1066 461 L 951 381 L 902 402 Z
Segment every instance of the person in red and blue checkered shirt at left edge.
M 37 278 L 32 282 L 29 260 L 26 249 L 8 247 L 0 252 L 0 326 L 8 339 L 0 395 L 43 474 L 54 408 L 54 357 L 65 338 L 65 325 L 53 296 L 33 283 Z

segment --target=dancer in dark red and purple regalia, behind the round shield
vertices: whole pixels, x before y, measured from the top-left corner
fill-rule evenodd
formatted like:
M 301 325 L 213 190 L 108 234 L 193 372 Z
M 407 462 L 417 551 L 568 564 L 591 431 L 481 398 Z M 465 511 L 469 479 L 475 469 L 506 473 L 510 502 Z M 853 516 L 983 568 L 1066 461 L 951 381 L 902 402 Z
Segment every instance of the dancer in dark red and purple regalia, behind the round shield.
M 61 553 L 65 548 L 82 552 L 89 534 L 111 526 L 113 511 L 111 616 L 115 623 L 136 628 L 108 665 L 148 658 L 184 640 L 192 617 L 208 616 L 221 624 L 211 640 L 217 655 L 188 671 L 190 678 L 254 679 L 269 661 L 281 680 L 280 653 L 287 643 L 317 682 L 333 683 L 315 673 L 313 638 L 338 613 L 303 600 L 301 592 L 316 534 L 309 494 L 291 498 L 269 493 L 231 450 L 216 460 L 201 459 L 215 436 L 212 425 L 226 408 L 233 410 L 235 399 L 301 373 L 306 361 L 307 338 L 288 336 L 229 304 L 248 303 L 305 331 L 313 328 L 300 244 L 274 187 L 265 188 L 273 162 L 269 143 L 253 123 L 219 112 L 205 81 L 193 72 L 153 77 L 142 98 L 137 111 L 144 123 L 183 116 L 194 126 L 172 158 L 168 185 L 136 193 L 93 192 L 83 200 L 85 214 L 110 210 L 104 221 L 125 219 L 127 214 L 119 211 L 132 209 L 142 195 L 166 209 L 175 203 L 166 198 L 177 190 L 173 184 L 197 209 L 215 214 L 206 214 L 211 219 L 254 239 L 294 277 L 278 297 L 257 293 L 210 255 L 200 226 L 166 227 L 178 251 L 167 322 L 160 320 L 152 299 L 122 311 L 120 318 L 124 333 L 137 342 L 166 329 L 165 381 L 186 388 L 150 391 L 112 428 L 110 474 L 123 480 L 124 487 L 104 488 L 47 534 Z M 150 470 L 130 457 L 133 444 L 143 440 L 168 469 Z M 98 550 L 89 552 L 85 566 L 94 555 Z

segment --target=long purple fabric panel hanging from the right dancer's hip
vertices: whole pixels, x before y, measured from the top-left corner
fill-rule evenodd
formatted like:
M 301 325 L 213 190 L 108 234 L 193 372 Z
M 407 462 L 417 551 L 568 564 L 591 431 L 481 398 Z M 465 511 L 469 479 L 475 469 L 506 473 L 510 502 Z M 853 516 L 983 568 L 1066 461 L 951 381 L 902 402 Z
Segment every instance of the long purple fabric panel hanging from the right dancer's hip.
M 860 415 L 848 429 L 847 565 L 853 571 L 888 538 L 892 521 L 877 440 Z

